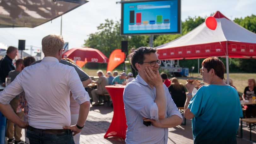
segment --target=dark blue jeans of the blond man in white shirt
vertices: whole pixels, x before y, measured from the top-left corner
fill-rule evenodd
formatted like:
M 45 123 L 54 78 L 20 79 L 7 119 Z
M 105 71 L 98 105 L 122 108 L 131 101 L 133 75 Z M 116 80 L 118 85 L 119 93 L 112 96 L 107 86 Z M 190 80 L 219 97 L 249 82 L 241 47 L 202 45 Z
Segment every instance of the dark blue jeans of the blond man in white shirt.
M 30 144 L 75 144 L 71 130 L 68 134 L 43 134 L 27 130 L 26 142 Z

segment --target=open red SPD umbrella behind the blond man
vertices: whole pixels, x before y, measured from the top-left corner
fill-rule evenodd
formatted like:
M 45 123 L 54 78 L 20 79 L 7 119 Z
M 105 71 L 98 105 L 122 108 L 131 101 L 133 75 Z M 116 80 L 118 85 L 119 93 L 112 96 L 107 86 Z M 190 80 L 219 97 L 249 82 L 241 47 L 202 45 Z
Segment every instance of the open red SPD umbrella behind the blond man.
M 108 63 L 108 58 L 98 49 L 93 48 L 73 48 L 62 54 L 62 58 L 70 58 L 87 62 Z

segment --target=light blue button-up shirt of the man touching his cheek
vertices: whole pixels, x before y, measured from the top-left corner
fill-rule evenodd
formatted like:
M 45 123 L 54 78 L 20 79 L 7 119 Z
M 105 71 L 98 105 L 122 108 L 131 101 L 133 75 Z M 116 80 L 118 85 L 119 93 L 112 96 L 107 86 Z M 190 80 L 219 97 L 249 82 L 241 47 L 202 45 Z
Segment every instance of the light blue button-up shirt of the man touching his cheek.
M 168 88 L 164 85 L 166 96 L 166 117 L 181 113 L 172 100 Z M 158 107 L 154 102 L 156 98 L 155 87 L 152 89 L 140 75 L 125 86 L 123 100 L 127 124 L 127 144 L 167 144 L 168 128 L 158 128 L 151 124 L 143 124 L 142 118 L 158 120 Z

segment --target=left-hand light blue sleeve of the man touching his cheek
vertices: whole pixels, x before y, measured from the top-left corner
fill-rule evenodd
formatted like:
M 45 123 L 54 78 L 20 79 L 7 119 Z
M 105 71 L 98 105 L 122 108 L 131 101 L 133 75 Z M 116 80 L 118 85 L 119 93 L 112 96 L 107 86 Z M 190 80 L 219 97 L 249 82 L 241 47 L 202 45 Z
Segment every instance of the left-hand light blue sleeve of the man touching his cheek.
M 130 84 L 124 90 L 124 103 L 145 118 L 158 120 L 154 99 L 140 85 Z

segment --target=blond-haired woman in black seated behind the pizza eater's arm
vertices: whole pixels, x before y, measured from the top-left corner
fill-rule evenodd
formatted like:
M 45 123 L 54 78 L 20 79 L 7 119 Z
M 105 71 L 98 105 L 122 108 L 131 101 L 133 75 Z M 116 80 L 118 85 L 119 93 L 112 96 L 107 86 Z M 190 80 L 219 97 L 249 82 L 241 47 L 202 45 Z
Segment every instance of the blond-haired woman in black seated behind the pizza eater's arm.
M 186 91 L 185 86 L 179 83 L 177 78 L 172 78 L 172 84 L 168 87 L 170 94 L 172 95 L 172 100 L 177 107 L 184 107 L 186 101 Z

